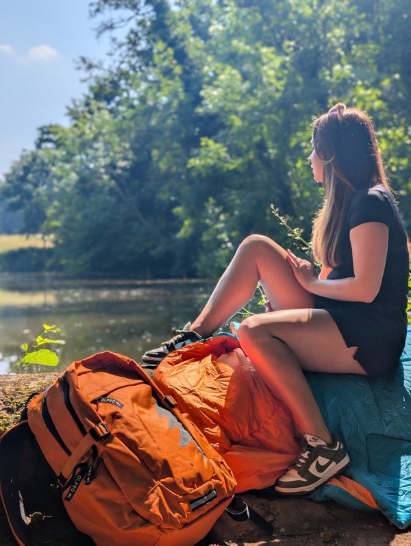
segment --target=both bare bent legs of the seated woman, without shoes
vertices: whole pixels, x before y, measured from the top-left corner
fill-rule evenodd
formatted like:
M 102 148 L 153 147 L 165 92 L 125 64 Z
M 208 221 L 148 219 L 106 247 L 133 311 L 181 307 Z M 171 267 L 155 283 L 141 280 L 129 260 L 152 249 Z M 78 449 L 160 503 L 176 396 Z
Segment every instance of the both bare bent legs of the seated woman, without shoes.
M 273 393 L 290 408 L 297 428 L 331 441 L 303 369 L 365 374 L 334 320 L 312 309 L 314 297 L 295 279 L 286 251 L 265 236 L 247 237 L 191 329 L 208 336 L 251 299 L 261 282 L 275 311 L 249 317 L 240 344 Z

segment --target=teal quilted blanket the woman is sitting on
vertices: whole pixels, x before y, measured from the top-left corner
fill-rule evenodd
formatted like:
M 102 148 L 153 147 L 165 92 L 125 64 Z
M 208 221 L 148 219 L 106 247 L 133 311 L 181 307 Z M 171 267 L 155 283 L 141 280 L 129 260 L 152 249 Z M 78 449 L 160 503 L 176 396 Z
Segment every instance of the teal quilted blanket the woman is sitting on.
M 351 464 L 345 475 L 373 495 L 399 528 L 411 524 L 411 327 L 394 377 L 307 373 L 325 422 L 345 443 Z M 323 485 L 309 496 L 366 509 L 343 489 Z

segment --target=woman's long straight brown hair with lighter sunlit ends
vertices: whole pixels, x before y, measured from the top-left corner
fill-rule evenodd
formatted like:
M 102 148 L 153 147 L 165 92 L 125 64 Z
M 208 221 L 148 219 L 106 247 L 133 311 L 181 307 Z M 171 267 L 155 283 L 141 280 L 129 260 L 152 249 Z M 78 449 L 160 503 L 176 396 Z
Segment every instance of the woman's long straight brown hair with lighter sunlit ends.
M 382 184 L 390 191 L 377 137 L 369 117 L 338 103 L 313 123 L 312 143 L 323 163 L 323 206 L 312 229 L 314 259 L 329 267 L 340 262 L 341 232 L 349 204 L 361 190 Z

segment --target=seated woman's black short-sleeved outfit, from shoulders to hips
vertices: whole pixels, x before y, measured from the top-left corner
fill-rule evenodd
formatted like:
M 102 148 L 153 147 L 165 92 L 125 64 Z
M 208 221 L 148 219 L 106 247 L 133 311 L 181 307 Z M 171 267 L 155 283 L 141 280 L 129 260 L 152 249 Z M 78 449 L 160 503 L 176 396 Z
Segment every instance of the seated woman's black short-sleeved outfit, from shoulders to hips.
M 355 358 L 373 377 L 397 365 L 407 328 L 407 236 L 398 207 L 384 186 L 373 186 L 353 197 L 340 239 L 340 265 L 327 278 L 353 277 L 349 232 L 367 222 L 381 222 L 389 229 L 386 264 L 377 297 L 371 303 L 364 303 L 316 296 L 315 302 L 316 308 L 326 309 L 332 315 L 347 347 L 358 347 Z

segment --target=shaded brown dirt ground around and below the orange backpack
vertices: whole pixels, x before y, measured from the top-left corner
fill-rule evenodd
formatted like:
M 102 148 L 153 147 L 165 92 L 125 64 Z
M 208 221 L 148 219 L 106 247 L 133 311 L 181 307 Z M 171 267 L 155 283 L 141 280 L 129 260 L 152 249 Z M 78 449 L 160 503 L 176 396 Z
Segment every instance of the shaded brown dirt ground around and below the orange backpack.
M 54 378 L 54 373 L 0 375 L 0 434 L 18 420 L 28 395 L 43 390 Z M 80 534 L 67 517 L 58 493 L 49 488 L 52 475 L 40 456 L 27 451 L 23 465 L 27 474 L 22 481 L 33 546 L 92 546 L 90 538 Z M 279 497 L 271 490 L 241 497 L 273 525 L 273 533 L 253 521 L 238 523 L 223 514 L 197 546 L 411 546 L 411 530 L 395 528 L 380 512 L 349 510 L 332 501 Z M 15 544 L 0 506 L 0 546 Z

